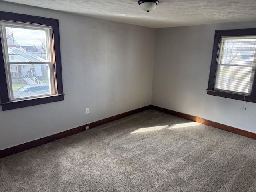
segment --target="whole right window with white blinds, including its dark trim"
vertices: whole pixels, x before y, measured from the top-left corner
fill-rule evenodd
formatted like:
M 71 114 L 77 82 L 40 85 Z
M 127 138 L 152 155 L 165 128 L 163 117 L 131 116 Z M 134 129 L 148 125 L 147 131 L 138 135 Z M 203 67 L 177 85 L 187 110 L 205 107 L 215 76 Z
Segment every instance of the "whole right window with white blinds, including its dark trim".
M 256 103 L 256 29 L 215 32 L 207 94 Z

